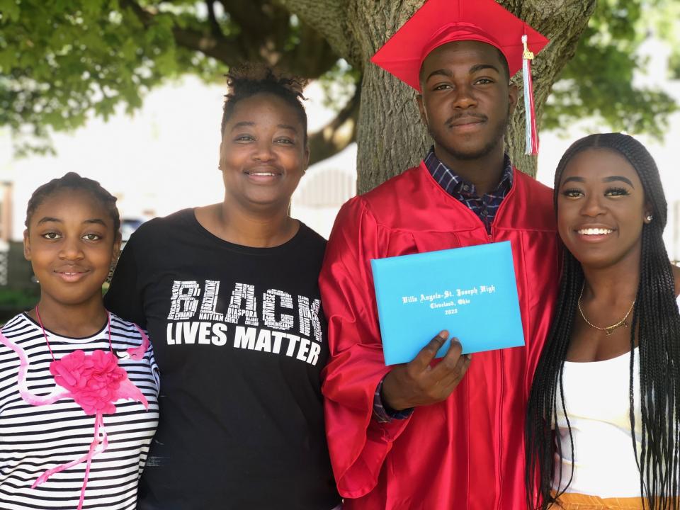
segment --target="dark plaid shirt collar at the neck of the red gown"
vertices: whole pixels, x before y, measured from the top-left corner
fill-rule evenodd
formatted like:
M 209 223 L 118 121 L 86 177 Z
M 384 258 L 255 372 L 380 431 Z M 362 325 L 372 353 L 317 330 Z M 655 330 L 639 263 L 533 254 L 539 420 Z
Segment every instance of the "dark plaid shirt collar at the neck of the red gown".
M 486 193 L 484 196 L 477 196 L 475 185 L 463 181 L 463 178 L 455 173 L 452 169 L 443 164 L 434 154 L 434 147 L 424 159 L 427 167 L 434 180 L 439 183 L 446 193 L 465 204 L 468 208 L 475 212 L 475 214 L 482 220 L 487 232 L 491 232 L 491 224 L 494 222 L 496 212 L 501 205 L 503 199 L 512 187 L 512 165 L 510 157 L 505 154 L 503 160 L 503 175 L 494 191 Z

